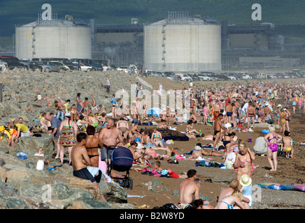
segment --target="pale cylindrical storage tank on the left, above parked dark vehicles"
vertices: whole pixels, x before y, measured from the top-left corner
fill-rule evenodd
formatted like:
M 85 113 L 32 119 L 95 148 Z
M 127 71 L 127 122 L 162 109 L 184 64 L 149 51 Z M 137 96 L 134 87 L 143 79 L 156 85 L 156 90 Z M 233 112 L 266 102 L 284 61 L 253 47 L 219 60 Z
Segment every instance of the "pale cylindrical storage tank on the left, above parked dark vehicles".
M 88 26 L 71 21 L 33 22 L 16 27 L 17 58 L 92 58 L 91 33 Z

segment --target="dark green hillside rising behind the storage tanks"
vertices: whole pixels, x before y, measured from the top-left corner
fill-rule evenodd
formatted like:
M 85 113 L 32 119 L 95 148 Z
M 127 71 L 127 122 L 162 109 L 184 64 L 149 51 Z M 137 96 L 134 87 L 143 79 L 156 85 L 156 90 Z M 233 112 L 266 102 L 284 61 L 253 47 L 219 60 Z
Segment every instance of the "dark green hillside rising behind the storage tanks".
M 150 23 L 166 18 L 169 11 L 188 11 L 189 15 L 227 20 L 229 24 L 271 22 L 284 32 L 292 27 L 288 34 L 304 37 L 299 27 L 305 27 L 305 1 L 299 0 L 1 0 L 0 36 L 11 36 L 15 24 L 35 21 L 37 14 L 43 13 L 43 3 L 50 3 L 52 13 L 58 17 L 69 14 L 85 22 L 95 18 L 97 24 L 126 24 L 132 17 L 140 23 Z M 262 21 L 251 20 L 253 3 L 262 6 Z

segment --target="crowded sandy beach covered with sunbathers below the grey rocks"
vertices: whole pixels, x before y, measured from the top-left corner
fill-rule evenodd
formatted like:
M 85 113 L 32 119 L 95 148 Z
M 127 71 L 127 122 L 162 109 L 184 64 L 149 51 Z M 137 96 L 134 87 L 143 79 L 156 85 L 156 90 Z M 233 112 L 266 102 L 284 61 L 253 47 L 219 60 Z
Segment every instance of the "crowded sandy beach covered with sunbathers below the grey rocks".
M 39 93 L 39 114 L 29 117 L 35 124 L 17 114 L 1 120 L 0 144 L 18 148 L 22 137 L 50 135 L 54 171 L 70 169 L 98 191 L 99 171 L 122 181 L 126 170 L 109 164 L 113 150 L 125 148 L 132 155 L 132 185 L 124 190 L 134 208 L 304 208 L 304 187 L 293 185 L 304 185 L 304 82 L 139 77 L 132 83 L 135 100 L 126 106 L 127 89 L 110 87 L 113 77 L 107 77 L 103 101 L 78 89 L 74 97 Z M 148 86 L 160 97 L 181 96 L 181 107 L 148 106 Z M 43 156 L 43 148 L 35 155 Z M 103 193 L 99 199 L 109 202 Z

